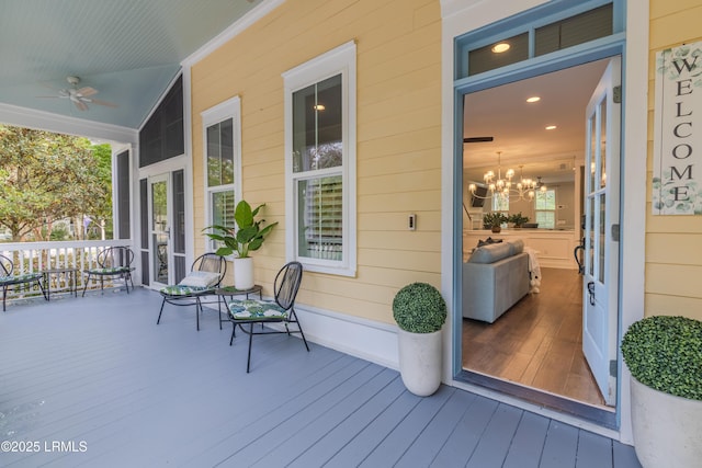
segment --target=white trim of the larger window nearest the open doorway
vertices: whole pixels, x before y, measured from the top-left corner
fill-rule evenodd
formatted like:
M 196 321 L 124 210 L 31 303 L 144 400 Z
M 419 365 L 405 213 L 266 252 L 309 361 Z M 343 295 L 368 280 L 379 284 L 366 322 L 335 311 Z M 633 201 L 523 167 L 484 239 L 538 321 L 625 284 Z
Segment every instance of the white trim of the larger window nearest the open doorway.
M 356 176 L 355 176 L 355 105 L 356 69 L 355 43 L 340 45 L 283 73 L 285 102 L 285 251 L 287 261 L 297 260 L 313 272 L 343 276 L 355 276 L 356 271 Z M 343 171 L 342 171 L 342 260 L 301 258 L 297 252 L 297 217 L 295 216 L 297 179 L 308 179 L 313 174 L 322 176 L 324 171 L 305 172 L 302 176 L 293 173 L 293 93 L 310 84 L 341 73 Z

